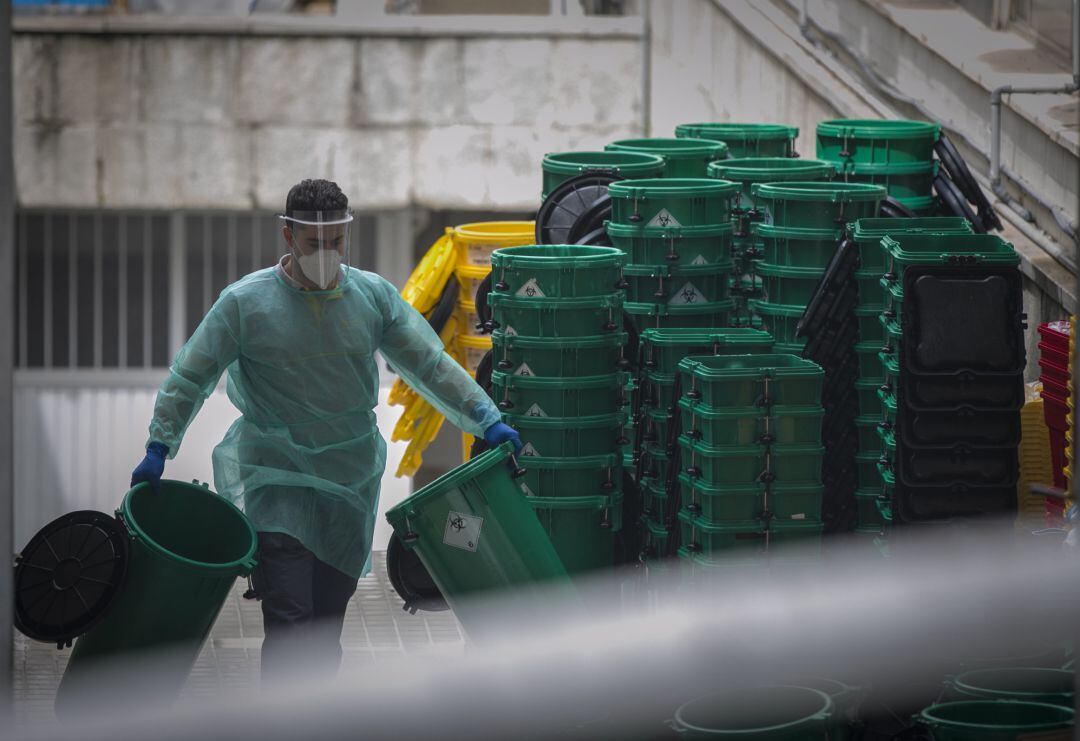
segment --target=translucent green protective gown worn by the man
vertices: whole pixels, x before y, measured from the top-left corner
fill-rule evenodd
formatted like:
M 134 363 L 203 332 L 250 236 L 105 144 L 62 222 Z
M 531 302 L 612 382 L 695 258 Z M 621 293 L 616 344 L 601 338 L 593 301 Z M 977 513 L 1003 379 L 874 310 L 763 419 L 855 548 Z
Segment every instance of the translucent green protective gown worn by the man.
M 501 417 L 427 320 L 374 273 L 300 291 L 274 268 L 221 292 L 158 391 L 150 440 L 176 455 L 221 373 L 241 417 L 214 449 L 214 483 L 264 531 L 297 538 L 355 577 L 369 570 L 387 445 L 375 423 L 381 352 L 473 435 Z

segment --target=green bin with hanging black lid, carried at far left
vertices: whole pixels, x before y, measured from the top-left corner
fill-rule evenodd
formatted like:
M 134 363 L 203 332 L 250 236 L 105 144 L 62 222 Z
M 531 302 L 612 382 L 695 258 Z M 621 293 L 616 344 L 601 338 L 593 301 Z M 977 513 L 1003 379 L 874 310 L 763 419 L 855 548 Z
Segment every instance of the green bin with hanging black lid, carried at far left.
M 198 482 L 139 484 L 114 518 L 76 512 L 46 526 L 17 561 L 15 622 L 38 639 L 75 639 L 57 714 L 117 691 L 175 698 L 256 545 L 240 510 Z M 151 655 L 147 675 L 138 659 Z

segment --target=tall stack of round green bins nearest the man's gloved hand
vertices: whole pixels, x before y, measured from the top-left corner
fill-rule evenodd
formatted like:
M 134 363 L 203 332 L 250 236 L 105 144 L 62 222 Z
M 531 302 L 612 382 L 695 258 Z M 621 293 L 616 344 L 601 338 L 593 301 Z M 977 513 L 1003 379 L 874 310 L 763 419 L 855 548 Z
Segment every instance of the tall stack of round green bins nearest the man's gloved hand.
M 491 396 L 522 436 L 522 491 L 570 574 L 610 567 L 622 524 L 623 254 L 491 254 Z

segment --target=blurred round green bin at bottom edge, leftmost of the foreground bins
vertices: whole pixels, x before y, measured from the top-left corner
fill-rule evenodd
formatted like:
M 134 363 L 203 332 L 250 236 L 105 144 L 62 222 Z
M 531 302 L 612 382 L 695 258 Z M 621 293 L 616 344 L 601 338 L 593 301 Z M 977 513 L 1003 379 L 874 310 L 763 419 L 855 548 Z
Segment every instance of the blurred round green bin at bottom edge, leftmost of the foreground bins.
M 671 726 L 684 739 L 824 741 L 832 713 L 828 695 L 810 687 L 747 687 L 680 705 Z

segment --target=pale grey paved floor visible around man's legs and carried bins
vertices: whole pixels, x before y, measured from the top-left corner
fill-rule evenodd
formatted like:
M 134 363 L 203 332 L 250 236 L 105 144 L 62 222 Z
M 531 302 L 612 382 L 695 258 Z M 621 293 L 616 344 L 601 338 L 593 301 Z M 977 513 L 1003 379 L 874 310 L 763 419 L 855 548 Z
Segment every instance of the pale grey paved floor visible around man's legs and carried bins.
M 201 698 L 230 690 L 254 690 L 259 682 L 262 611 L 244 599 L 246 581 L 238 581 L 210 641 L 203 647 L 184 698 Z M 372 574 L 360 580 L 341 631 L 342 670 L 376 664 L 380 659 L 428 651 L 463 651 L 464 637 L 450 611 L 402 609 L 401 597 L 387 579 L 386 553 L 374 554 Z M 70 649 L 30 641 L 15 634 L 15 723 L 54 723 L 53 698 Z

